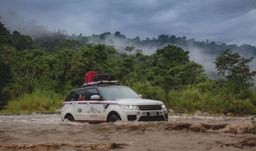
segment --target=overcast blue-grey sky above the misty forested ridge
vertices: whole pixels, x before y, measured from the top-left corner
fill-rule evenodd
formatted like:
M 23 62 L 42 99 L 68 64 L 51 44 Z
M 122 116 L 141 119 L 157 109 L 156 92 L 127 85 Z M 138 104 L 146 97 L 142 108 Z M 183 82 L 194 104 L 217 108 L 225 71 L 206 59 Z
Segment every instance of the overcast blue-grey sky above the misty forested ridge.
M 70 35 L 119 31 L 129 38 L 144 39 L 172 34 L 255 46 L 255 7 L 255 0 L 1 0 L 0 21 L 10 30 L 21 28 L 19 21 L 23 21 L 27 28 L 32 28 L 28 24 L 44 26 Z M 8 11 L 24 19 L 10 21 Z

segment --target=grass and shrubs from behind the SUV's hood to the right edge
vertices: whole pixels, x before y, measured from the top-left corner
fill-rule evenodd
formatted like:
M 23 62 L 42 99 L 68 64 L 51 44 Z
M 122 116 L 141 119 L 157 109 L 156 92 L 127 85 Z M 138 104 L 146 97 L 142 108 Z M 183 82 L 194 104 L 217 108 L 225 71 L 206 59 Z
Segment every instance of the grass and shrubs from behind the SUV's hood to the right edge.
M 153 87 L 149 82 L 136 83 L 132 88 L 142 94 L 143 98 L 161 100 L 175 112 L 184 107 L 187 113 L 201 110 L 209 113 L 256 114 L 256 93 L 253 90 L 233 94 L 225 88 L 202 91 L 188 85 L 181 90 L 170 90 L 166 98 L 161 87 Z

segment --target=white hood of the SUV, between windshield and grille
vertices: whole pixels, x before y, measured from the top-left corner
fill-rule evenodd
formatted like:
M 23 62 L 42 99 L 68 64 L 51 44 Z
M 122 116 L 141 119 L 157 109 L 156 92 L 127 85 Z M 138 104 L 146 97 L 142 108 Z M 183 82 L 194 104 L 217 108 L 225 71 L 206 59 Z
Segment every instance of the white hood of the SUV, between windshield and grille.
M 144 99 L 144 98 L 122 98 L 115 99 L 119 105 L 162 105 L 159 100 Z

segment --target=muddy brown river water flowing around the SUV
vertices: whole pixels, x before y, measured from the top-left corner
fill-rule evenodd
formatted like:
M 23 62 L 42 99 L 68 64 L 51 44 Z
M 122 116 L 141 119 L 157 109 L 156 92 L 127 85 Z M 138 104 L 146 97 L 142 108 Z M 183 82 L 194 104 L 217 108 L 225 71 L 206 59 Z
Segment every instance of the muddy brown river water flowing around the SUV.
M 59 114 L 0 116 L 0 150 L 256 150 L 251 117 L 89 124 Z

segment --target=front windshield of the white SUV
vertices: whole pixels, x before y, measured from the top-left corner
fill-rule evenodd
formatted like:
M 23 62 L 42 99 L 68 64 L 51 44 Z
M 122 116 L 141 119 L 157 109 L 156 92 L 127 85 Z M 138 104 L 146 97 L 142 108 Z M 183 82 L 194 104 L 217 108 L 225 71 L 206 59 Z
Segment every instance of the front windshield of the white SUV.
M 141 98 L 129 87 L 99 87 L 99 90 L 106 99 Z

